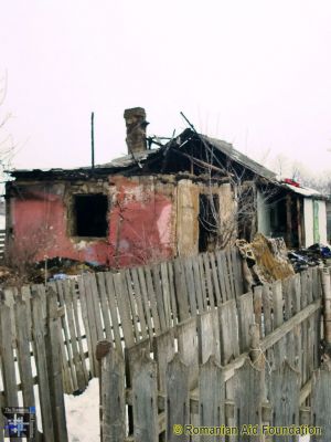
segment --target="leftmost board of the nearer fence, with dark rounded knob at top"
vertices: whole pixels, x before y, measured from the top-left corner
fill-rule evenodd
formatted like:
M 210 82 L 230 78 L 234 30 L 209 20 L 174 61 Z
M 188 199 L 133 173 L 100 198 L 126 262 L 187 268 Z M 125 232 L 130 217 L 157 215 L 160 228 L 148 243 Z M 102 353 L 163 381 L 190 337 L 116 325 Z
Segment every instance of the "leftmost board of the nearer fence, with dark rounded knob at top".
M 111 343 L 97 344 L 96 359 L 99 361 L 100 435 L 102 442 L 124 441 L 125 431 L 125 362 L 119 349 Z

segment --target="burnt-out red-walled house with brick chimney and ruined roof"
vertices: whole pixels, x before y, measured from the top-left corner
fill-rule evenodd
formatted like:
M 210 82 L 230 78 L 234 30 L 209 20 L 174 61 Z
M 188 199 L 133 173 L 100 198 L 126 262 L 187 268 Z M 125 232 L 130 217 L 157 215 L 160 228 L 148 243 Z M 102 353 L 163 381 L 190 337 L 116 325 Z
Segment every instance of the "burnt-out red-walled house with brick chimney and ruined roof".
M 305 243 L 306 197 L 297 188 L 193 128 L 162 144 L 146 136 L 142 108 L 127 109 L 125 119 L 125 157 L 70 170 L 11 171 L 9 257 L 121 267 L 249 241 L 258 230 L 281 234 L 288 245 Z

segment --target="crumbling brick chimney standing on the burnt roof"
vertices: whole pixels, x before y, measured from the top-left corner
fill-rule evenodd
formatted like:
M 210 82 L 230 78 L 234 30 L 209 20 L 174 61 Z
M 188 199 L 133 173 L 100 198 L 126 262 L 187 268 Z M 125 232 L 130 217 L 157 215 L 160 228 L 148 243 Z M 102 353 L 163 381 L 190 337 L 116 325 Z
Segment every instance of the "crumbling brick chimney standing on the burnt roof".
M 147 150 L 146 141 L 146 112 L 142 107 L 126 109 L 124 114 L 127 126 L 128 154 L 137 154 Z

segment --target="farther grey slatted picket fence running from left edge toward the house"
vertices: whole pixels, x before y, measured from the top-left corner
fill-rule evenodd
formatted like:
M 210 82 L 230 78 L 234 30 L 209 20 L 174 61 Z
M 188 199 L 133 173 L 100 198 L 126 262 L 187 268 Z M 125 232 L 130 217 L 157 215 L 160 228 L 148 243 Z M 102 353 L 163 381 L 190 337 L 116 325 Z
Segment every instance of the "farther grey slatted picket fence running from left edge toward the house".
M 98 375 L 98 341 L 107 339 L 124 352 L 237 299 L 243 293 L 241 270 L 238 253 L 232 250 L 118 273 L 83 274 L 47 286 L 4 290 L 0 299 L 0 401 L 4 406 L 36 403 L 42 428 L 47 429 L 36 440 L 65 442 L 65 432 L 58 436 L 64 417 L 62 389 L 82 392 Z M 56 301 L 56 313 L 50 313 L 50 299 L 54 312 Z

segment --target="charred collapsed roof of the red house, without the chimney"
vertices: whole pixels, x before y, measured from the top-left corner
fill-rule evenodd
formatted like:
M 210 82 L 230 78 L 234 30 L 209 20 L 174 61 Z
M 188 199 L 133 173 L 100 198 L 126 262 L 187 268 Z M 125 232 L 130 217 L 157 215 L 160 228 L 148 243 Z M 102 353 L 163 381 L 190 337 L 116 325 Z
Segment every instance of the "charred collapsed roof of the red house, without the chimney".
M 158 149 L 132 152 L 110 162 L 75 169 L 11 170 L 21 180 L 89 179 L 109 175 L 153 175 L 188 172 L 194 176 L 209 173 L 213 178 L 263 178 L 276 183 L 276 175 L 220 139 L 185 129 L 181 135 L 162 145 L 154 138 L 149 144 Z

